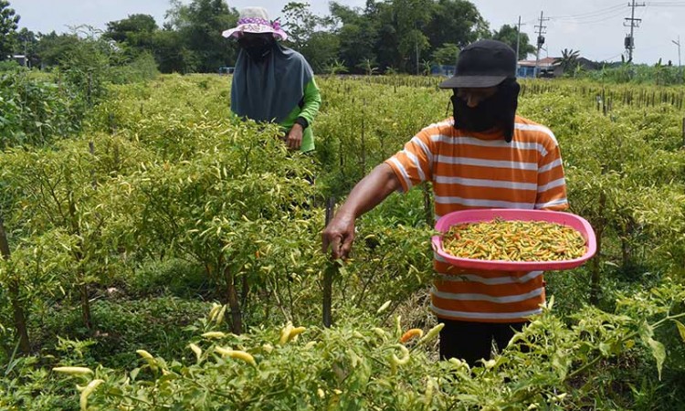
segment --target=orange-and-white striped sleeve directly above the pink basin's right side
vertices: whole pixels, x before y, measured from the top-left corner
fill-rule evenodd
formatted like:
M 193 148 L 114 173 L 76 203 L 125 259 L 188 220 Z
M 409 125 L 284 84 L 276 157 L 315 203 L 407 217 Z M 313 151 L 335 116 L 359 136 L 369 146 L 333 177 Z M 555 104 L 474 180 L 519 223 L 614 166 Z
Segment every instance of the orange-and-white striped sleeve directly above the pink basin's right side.
M 538 164 L 538 192 L 536 209 L 561 211 L 568 208 L 566 180 L 559 145 L 555 140 L 545 148 L 546 154 Z

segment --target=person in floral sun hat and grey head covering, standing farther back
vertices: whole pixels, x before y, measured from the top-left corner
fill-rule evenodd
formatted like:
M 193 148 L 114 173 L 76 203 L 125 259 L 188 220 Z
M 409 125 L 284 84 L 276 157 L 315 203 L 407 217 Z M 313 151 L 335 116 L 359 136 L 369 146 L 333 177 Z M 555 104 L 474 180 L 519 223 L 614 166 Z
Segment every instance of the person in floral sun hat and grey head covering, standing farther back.
M 321 94 L 314 73 L 300 53 L 279 45 L 288 35 L 270 21 L 263 7 L 240 11 L 237 26 L 222 33 L 239 46 L 231 84 L 231 111 L 240 118 L 273 121 L 291 150 L 314 150 L 311 123 Z

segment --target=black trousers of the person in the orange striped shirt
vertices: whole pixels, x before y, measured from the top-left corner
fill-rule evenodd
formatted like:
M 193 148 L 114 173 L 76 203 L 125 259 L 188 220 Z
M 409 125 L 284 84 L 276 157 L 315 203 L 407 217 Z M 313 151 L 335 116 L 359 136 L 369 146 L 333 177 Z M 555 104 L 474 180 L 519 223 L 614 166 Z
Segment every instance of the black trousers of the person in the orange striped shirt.
M 440 359 L 458 358 L 469 366 L 479 360 L 489 360 L 492 341 L 503 350 L 513 334 L 520 332 L 526 322 L 470 322 L 438 319 L 445 323 L 440 331 Z

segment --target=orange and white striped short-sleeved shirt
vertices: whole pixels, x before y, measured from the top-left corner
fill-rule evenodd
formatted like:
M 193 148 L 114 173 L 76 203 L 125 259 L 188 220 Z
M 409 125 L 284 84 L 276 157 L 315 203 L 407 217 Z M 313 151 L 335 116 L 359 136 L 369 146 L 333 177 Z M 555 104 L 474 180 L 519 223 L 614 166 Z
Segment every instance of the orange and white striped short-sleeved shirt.
M 404 191 L 433 184 L 436 218 L 475 208 L 568 207 L 559 145 L 547 127 L 516 116 L 514 135 L 432 124 L 386 160 Z M 541 311 L 542 271 L 458 269 L 434 254 L 431 310 L 459 321 L 518 322 Z

